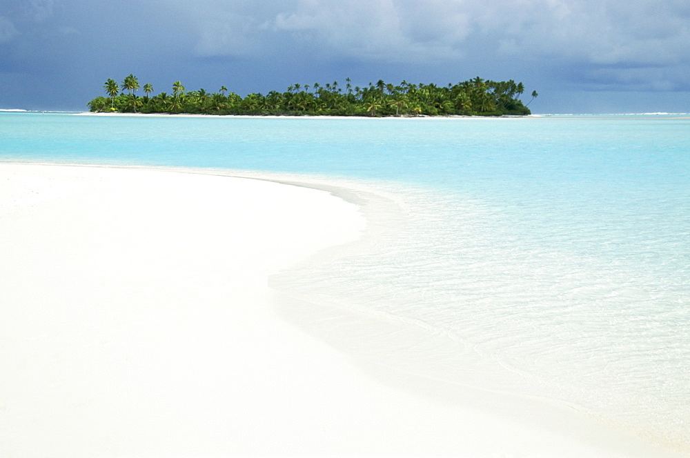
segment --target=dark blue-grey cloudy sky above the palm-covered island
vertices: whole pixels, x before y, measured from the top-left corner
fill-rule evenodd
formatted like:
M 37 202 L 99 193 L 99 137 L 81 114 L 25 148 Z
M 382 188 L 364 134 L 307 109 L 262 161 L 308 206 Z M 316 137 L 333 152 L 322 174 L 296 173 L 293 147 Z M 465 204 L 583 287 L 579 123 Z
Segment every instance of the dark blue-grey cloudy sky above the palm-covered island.
M 0 0 L 0 108 L 293 83 L 537 90 L 533 112 L 690 112 L 688 0 Z M 524 97 L 529 99 L 529 97 Z

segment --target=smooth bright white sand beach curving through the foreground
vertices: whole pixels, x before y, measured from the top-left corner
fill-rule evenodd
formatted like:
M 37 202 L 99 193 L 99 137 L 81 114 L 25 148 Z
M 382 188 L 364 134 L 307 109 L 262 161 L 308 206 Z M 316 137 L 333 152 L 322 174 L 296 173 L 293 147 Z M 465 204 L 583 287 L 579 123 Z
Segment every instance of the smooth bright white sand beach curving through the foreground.
M 365 226 L 271 181 L 0 164 L 0 456 L 676 456 L 284 319 L 268 277 Z

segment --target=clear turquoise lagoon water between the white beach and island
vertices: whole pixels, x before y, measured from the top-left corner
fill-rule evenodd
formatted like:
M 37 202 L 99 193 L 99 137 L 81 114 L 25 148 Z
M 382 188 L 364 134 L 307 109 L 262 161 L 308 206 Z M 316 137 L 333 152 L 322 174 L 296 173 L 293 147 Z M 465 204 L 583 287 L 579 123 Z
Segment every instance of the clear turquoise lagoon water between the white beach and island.
M 690 452 L 690 117 L 0 113 L 0 161 L 262 170 L 378 189 L 395 197 L 370 210 L 384 237 L 276 281 L 424 330 L 428 341 L 389 349 L 402 370 L 433 341 L 433 361 L 410 364 L 420 375 L 545 397 Z

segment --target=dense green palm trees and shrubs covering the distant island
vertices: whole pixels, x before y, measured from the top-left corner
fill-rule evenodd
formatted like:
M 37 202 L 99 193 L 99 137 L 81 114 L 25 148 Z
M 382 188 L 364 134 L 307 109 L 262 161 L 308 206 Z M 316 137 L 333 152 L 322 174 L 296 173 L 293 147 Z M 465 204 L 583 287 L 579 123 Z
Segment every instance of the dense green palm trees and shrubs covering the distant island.
M 221 86 L 219 92 L 204 89 L 186 91 L 180 81 L 172 84 L 172 96 L 161 92 L 153 97 L 153 87 L 144 84 L 144 97 L 139 80 L 129 74 L 120 85 L 108 79 L 103 85 L 108 97 L 96 97 L 88 103 L 92 112 L 191 113 L 206 115 L 328 115 L 328 116 L 444 116 L 444 115 L 529 115 L 530 110 L 520 96 L 522 83 L 489 81 L 480 77 L 455 85 L 410 84 L 397 86 L 369 83 L 353 87 L 351 80 L 340 86 L 337 81 L 321 86 L 297 83 L 286 92 L 248 94 L 242 98 Z M 127 91 L 127 92 L 124 92 Z M 532 92 L 532 100 L 537 92 Z M 528 103 L 529 104 L 529 103 Z

